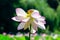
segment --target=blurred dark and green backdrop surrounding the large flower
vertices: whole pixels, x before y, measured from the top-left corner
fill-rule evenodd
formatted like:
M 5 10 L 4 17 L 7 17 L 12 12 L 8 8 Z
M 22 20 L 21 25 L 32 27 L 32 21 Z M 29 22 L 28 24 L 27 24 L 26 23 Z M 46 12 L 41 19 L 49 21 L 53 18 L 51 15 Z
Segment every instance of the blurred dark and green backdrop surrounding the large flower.
M 17 33 L 18 22 L 11 18 L 16 16 L 15 9 L 25 11 L 37 9 L 46 18 L 46 31 L 60 33 L 60 0 L 0 0 L 0 33 Z M 27 29 L 28 30 L 28 29 Z M 20 30 L 21 32 L 28 32 Z

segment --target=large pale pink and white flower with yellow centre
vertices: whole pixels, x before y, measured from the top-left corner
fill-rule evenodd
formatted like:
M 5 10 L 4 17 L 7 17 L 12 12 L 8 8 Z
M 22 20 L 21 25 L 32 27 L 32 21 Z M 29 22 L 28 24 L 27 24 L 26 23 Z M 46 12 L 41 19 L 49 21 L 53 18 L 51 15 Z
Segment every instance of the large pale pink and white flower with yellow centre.
M 17 8 L 16 15 L 17 16 L 13 17 L 12 19 L 17 22 L 21 22 L 17 27 L 18 30 L 23 28 L 26 30 L 30 27 L 30 25 L 34 30 L 37 30 L 37 27 L 45 29 L 45 18 L 39 14 L 38 10 L 30 9 L 26 13 L 23 9 Z

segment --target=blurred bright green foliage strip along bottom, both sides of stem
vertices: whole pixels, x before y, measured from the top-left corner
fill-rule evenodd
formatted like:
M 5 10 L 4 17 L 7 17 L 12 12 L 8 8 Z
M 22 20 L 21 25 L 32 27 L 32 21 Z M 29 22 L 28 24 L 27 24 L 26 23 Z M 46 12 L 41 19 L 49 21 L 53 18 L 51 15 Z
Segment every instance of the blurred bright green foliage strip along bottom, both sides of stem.
M 34 37 L 34 40 L 60 40 L 60 36 L 58 35 L 56 38 L 54 38 L 55 36 L 51 36 L 51 35 L 46 35 L 41 36 L 41 35 L 37 35 Z M 0 40 L 28 40 L 28 37 L 26 38 L 26 36 L 20 36 L 20 37 L 16 37 L 16 35 L 14 35 L 14 37 L 10 37 L 9 35 L 1 35 L 0 34 Z

